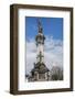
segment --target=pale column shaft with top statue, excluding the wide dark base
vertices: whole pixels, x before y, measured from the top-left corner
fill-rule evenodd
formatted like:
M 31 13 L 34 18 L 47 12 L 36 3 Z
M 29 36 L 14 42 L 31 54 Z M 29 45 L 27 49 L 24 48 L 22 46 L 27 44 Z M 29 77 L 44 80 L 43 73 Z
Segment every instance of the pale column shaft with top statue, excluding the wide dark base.
M 36 41 L 36 47 L 38 47 L 38 55 L 36 55 L 36 62 L 43 63 L 44 62 L 44 40 L 45 36 L 43 35 L 43 29 L 41 21 L 39 20 L 39 33 L 35 37 Z

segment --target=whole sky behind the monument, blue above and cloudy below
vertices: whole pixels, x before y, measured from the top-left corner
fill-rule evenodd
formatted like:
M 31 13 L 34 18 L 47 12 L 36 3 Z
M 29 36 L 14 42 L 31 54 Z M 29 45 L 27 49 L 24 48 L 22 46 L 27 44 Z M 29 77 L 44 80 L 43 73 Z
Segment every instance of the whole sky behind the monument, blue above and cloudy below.
M 43 34 L 46 37 L 44 44 L 44 63 L 47 68 L 52 66 L 63 67 L 63 19 L 40 18 Z M 36 62 L 35 35 L 38 35 L 38 18 L 25 18 L 26 34 L 26 74 L 30 74 Z

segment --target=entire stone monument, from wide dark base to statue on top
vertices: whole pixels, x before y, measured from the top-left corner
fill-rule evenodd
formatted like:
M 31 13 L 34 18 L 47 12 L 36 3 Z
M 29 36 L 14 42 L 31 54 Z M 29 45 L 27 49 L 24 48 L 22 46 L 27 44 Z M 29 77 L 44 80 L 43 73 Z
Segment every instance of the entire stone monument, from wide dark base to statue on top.
M 49 68 L 44 63 L 44 41 L 45 36 L 43 34 L 42 23 L 39 19 L 38 21 L 38 35 L 35 36 L 36 42 L 36 63 L 31 70 L 31 76 L 29 81 L 45 81 L 49 80 Z

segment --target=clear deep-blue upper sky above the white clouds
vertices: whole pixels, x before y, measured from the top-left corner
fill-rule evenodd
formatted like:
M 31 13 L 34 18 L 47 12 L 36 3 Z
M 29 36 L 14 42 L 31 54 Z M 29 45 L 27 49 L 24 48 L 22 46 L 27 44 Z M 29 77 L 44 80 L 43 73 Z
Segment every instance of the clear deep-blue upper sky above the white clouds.
M 40 18 L 43 34 L 53 36 L 55 40 L 63 40 L 63 18 Z M 38 34 L 38 18 L 25 18 L 26 40 L 34 38 Z

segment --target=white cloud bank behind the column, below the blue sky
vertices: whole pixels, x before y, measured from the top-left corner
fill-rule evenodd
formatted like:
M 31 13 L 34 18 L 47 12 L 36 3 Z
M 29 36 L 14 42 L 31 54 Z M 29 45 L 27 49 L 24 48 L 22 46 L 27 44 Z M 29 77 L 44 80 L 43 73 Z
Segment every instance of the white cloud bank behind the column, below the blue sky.
M 36 61 L 35 40 L 26 42 L 26 73 L 29 74 Z M 63 66 L 63 42 L 54 40 L 53 36 L 46 36 L 44 44 L 44 63 L 47 68 L 52 66 Z

